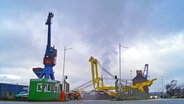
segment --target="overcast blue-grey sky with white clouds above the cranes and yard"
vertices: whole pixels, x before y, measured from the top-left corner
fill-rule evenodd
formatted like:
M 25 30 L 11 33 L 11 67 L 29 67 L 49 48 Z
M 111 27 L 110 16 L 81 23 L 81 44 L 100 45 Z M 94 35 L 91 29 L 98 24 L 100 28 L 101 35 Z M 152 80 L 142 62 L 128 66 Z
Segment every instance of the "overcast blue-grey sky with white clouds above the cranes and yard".
M 149 64 L 150 78 L 158 78 L 151 91 L 161 90 L 162 79 L 183 83 L 183 5 L 183 0 L 1 1 L 0 83 L 28 85 L 37 78 L 32 68 L 44 67 L 48 12 L 54 13 L 57 80 L 62 79 L 64 47 L 73 48 L 66 52 L 65 67 L 71 89 L 91 80 L 90 56 L 119 75 L 119 44 L 128 47 L 121 49 L 123 79 Z

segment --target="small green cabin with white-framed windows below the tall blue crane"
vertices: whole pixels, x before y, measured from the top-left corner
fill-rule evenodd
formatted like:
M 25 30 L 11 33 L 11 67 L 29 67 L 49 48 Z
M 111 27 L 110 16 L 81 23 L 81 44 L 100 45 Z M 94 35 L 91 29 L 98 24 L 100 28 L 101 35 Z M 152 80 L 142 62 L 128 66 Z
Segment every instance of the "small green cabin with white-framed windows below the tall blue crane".
M 60 99 L 60 81 L 30 79 L 28 100 L 57 101 Z

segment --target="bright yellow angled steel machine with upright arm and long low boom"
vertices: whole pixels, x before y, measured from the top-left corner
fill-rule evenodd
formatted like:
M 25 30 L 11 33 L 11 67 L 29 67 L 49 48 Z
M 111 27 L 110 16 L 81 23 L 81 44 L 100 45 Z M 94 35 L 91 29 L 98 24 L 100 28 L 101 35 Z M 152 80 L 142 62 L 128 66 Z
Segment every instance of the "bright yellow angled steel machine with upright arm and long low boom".
M 94 59 L 92 56 L 89 59 L 89 62 L 91 63 L 91 72 L 92 72 L 92 83 L 93 83 L 93 87 L 94 90 L 96 91 L 109 91 L 109 90 L 115 90 L 115 86 L 105 86 L 104 82 L 103 82 L 103 78 L 99 77 L 98 75 L 98 61 L 97 59 Z M 123 92 L 126 91 L 126 89 L 129 88 L 133 88 L 133 89 L 138 89 L 142 92 L 144 92 L 144 87 L 145 86 L 151 86 L 153 81 L 155 81 L 156 78 L 152 79 L 152 80 L 147 80 L 145 82 L 136 84 L 136 85 L 132 85 L 132 86 L 124 86 L 122 87 Z M 110 96 L 115 96 L 115 91 L 108 93 Z

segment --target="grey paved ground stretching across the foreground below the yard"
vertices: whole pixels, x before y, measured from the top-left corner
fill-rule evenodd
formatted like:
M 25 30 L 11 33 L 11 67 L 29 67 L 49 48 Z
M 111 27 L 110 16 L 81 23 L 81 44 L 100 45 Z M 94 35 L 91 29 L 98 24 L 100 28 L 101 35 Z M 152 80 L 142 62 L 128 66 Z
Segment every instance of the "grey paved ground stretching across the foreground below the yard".
M 184 104 L 184 99 L 154 99 L 154 100 L 129 100 L 129 101 L 79 100 L 69 102 L 0 101 L 0 104 Z

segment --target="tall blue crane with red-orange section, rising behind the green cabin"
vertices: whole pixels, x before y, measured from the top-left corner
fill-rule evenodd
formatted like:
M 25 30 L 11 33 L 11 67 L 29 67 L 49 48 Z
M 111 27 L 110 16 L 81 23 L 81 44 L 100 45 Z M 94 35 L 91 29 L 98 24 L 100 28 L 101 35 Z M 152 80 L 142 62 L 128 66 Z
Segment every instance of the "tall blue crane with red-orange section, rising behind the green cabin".
M 33 68 L 33 72 L 37 75 L 38 78 L 46 78 L 55 80 L 53 67 L 56 65 L 56 56 L 57 50 L 51 47 L 51 19 L 54 17 L 53 13 L 49 13 L 47 22 L 48 25 L 48 39 L 47 39 L 47 47 L 45 51 L 45 56 L 43 58 L 44 68 Z

